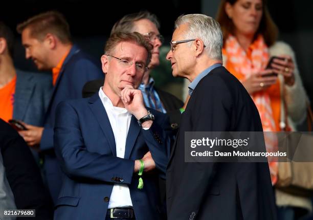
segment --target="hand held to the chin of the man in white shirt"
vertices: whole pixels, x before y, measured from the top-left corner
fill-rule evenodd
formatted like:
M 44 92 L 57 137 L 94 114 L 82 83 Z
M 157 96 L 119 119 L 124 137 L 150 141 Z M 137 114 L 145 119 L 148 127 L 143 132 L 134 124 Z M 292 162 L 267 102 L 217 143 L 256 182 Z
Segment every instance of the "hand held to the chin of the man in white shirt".
M 148 115 L 140 90 L 135 90 L 130 86 L 125 87 L 121 92 L 121 99 L 127 111 L 134 115 L 137 120 Z

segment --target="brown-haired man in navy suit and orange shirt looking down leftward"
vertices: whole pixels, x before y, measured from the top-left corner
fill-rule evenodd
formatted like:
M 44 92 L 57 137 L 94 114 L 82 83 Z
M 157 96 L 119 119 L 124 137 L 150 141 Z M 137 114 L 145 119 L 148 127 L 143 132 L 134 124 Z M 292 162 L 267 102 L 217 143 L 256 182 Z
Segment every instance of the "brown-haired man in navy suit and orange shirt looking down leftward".
M 17 26 L 26 58 L 32 59 L 38 70 L 52 71 L 53 93 L 44 118 L 44 126 L 25 124 L 20 131 L 27 144 L 44 155 L 44 171 L 50 193 L 56 202 L 61 187 L 61 170 L 55 157 L 53 127 L 56 106 L 60 101 L 81 98 L 83 85 L 103 77 L 100 63 L 83 53 L 71 41 L 69 24 L 64 16 L 50 11 L 38 14 Z

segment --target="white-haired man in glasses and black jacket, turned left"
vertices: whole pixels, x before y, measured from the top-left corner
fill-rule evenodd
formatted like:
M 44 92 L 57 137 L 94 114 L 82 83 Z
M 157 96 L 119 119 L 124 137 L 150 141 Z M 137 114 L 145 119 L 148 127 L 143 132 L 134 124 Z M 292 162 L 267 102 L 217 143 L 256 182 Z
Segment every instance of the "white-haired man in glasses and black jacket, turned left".
M 221 65 L 222 42 L 211 17 L 175 21 L 167 59 L 173 76 L 191 83 L 166 173 L 169 220 L 276 219 L 267 163 L 185 162 L 185 131 L 262 131 L 250 95 Z

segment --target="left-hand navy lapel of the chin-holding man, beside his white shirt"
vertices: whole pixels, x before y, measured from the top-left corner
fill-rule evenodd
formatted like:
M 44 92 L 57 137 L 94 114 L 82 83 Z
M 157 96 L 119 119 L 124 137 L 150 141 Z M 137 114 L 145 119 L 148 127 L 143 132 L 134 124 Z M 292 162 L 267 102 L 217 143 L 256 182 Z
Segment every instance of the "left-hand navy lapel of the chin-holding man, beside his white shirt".
M 116 145 L 115 145 L 114 133 L 113 133 L 110 121 L 107 117 L 105 108 L 100 100 L 99 94 L 96 93 L 95 95 L 93 95 L 90 98 L 89 103 L 90 103 L 92 112 L 97 118 L 97 121 L 101 127 L 101 130 L 109 143 L 111 151 L 113 155 L 116 157 Z

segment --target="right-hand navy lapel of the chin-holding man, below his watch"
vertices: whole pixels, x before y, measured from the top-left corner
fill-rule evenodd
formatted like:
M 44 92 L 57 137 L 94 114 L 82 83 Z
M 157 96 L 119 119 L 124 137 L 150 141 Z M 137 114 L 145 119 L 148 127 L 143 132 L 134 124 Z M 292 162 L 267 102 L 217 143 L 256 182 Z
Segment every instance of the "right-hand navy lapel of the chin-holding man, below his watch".
M 125 159 L 129 159 L 132 148 L 135 145 L 137 137 L 140 133 L 140 129 L 141 127 L 139 126 L 135 116 L 131 116 L 127 139 L 126 139 L 126 146 L 125 146 L 125 155 L 124 155 Z

